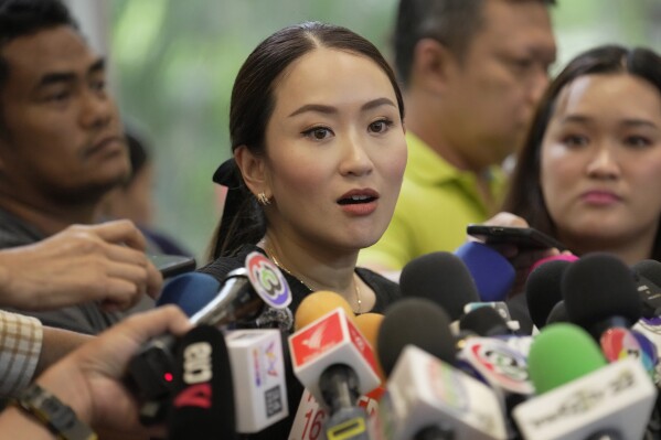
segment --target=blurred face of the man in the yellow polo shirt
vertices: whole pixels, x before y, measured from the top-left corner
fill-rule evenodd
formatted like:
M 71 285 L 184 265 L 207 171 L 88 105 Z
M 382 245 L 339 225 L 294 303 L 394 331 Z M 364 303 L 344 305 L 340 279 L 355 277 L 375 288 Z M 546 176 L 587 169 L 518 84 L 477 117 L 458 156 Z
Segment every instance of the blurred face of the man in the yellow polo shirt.
M 556 47 L 541 2 L 487 0 L 482 14 L 482 28 L 456 61 L 446 126 L 470 162 L 488 165 L 522 143 Z

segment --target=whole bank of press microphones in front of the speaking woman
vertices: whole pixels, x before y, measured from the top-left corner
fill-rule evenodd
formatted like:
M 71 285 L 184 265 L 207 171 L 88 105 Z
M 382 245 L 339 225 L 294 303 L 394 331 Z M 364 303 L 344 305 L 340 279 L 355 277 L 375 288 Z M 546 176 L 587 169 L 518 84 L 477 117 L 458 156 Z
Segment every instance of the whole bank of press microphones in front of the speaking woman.
M 222 286 L 202 273 L 166 286 L 159 303 L 180 304 L 195 326 L 151 341 L 130 375 L 148 404 L 171 404 L 171 440 L 235 438 L 287 417 L 282 356 L 306 388 L 289 439 L 639 439 L 653 415 L 658 356 L 637 328 L 659 310 L 654 264 L 541 264 L 523 293 L 535 336 L 483 301 L 454 254 L 411 261 L 404 298 L 383 315 L 355 316 L 320 291 L 292 316 L 271 266 L 259 255 Z M 572 323 L 550 323 L 558 303 Z M 163 420 L 154 408 L 164 410 L 147 405 L 143 416 Z

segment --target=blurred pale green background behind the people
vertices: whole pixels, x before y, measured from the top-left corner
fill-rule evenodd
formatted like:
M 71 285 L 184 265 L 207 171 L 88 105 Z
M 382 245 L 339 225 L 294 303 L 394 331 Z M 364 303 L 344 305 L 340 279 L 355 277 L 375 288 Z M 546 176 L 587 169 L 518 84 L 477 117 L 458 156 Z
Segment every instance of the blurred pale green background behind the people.
M 230 155 L 234 76 L 263 39 L 320 20 L 366 36 L 390 57 L 396 0 L 67 0 L 109 60 L 122 116 L 147 136 L 157 167 L 157 226 L 204 261 L 222 193 L 211 182 Z M 603 43 L 661 51 L 660 0 L 558 0 L 557 71 Z M 214 187 L 215 186 L 215 187 Z

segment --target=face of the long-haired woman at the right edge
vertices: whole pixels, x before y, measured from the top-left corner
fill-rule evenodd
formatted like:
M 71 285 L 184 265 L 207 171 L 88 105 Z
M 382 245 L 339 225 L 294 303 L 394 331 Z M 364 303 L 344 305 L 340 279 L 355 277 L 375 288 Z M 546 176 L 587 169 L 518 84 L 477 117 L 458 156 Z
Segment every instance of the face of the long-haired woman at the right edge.
M 561 92 L 542 143 L 542 193 L 559 236 L 617 245 L 649 238 L 661 214 L 661 95 L 627 74 Z

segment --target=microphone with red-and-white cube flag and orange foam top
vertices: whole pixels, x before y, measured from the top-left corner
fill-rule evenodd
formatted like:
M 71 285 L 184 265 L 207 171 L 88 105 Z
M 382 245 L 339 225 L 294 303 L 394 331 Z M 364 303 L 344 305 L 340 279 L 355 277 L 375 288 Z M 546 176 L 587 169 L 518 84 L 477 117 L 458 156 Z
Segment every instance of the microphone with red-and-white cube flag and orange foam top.
M 301 326 L 299 312 L 300 320 L 314 313 L 309 308 L 319 301 L 308 300 L 314 294 L 300 303 L 295 316 L 299 330 L 289 336 L 294 374 L 328 409 L 329 439 L 367 439 L 367 415 L 358 400 L 381 383 L 374 352 L 343 307 Z

